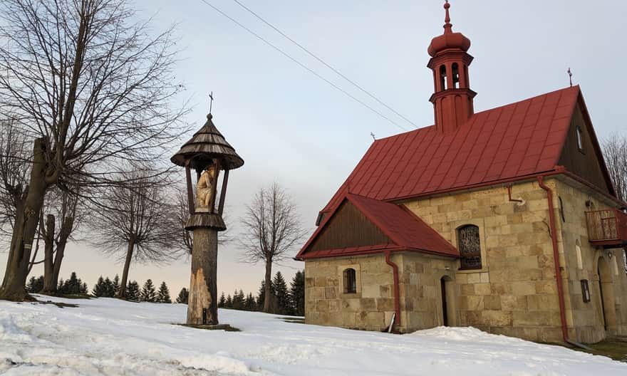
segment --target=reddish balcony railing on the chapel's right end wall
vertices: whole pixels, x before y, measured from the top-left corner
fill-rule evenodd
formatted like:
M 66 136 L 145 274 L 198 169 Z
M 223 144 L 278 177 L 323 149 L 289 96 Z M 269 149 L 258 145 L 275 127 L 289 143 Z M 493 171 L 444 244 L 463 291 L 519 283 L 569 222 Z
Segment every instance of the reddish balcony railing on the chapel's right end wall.
M 588 239 L 601 245 L 627 244 L 627 214 L 616 209 L 586 211 Z

